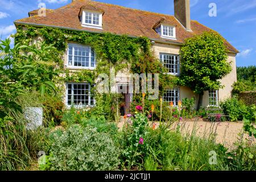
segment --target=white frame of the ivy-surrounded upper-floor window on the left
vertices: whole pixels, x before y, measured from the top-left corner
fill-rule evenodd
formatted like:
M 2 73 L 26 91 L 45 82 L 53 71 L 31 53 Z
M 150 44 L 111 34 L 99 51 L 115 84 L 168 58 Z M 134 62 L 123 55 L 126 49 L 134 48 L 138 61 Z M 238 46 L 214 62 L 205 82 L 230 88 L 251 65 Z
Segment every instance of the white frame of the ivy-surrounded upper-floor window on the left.
M 72 65 L 69 65 L 69 46 L 73 46 L 72 48 Z M 80 48 L 89 48 L 89 67 L 82 67 L 82 66 L 75 66 L 75 47 L 80 47 Z M 97 60 L 96 60 L 96 53 L 94 51 L 94 67 L 92 67 L 92 47 L 90 46 L 84 46 L 81 44 L 75 44 L 75 43 L 68 43 L 68 48 L 67 48 L 67 68 L 70 69 L 90 69 L 90 70 L 94 70 L 96 69 L 97 66 Z M 85 56 L 86 57 L 86 56 Z

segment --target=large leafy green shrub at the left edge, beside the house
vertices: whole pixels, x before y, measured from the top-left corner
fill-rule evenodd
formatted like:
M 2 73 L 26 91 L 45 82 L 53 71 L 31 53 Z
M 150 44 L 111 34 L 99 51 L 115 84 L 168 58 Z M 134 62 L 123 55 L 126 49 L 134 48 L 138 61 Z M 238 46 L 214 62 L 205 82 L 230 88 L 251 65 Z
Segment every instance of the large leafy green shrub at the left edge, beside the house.
M 20 94 L 31 90 L 40 90 L 41 94 L 55 89 L 52 83 L 57 71 L 52 65 L 49 52 L 54 52 L 51 46 L 44 43 L 39 48 L 16 44 L 10 48 L 10 39 L 0 43 L 0 117 L 7 115 L 9 109 L 22 111 L 14 100 Z M 30 55 L 20 55 L 20 51 L 29 51 Z M 45 57 L 44 57 L 45 56 Z

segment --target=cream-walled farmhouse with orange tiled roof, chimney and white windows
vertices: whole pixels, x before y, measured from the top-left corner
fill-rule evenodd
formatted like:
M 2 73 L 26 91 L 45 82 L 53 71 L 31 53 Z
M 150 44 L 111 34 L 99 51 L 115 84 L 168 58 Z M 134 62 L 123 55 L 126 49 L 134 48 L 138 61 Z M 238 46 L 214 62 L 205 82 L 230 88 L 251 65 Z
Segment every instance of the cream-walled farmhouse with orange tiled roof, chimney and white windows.
M 174 15 L 152 13 L 135 10 L 117 5 L 110 5 L 89 0 L 76 0 L 69 5 L 56 10 L 46 10 L 45 16 L 40 15 L 40 10 L 31 11 L 28 18 L 16 20 L 16 27 L 49 27 L 59 30 L 74 32 L 90 32 L 104 34 L 106 32 L 116 35 L 127 35 L 131 38 L 147 37 L 151 41 L 151 49 L 155 57 L 167 68 L 168 73 L 179 77 L 180 75 L 180 47 L 184 40 L 193 35 L 210 31 L 210 28 L 191 20 L 189 0 L 174 0 Z M 42 11 L 42 10 L 41 10 Z M 232 84 L 237 81 L 236 54 L 237 49 L 225 41 L 228 49 L 228 62 L 232 65 L 232 72 L 221 80 L 224 88 L 209 90 L 204 93 L 203 106 L 217 106 L 218 102 L 229 97 Z M 64 69 L 71 72 L 96 71 L 98 60 L 94 47 L 75 41 L 67 42 L 65 50 Z M 125 60 L 124 60 L 125 61 Z M 129 79 L 129 69 L 124 68 L 117 73 L 115 89 L 118 91 L 123 86 L 133 89 Z M 65 83 L 64 102 L 67 106 L 94 105 L 96 102 L 90 94 L 91 85 L 85 80 Z M 130 103 L 133 101 L 132 93 L 123 94 L 123 114 L 127 114 Z M 183 98 L 198 96 L 186 86 L 175 86 L 167 89 L 163 94 L 164 101 L 172 101 L 177 105 Z

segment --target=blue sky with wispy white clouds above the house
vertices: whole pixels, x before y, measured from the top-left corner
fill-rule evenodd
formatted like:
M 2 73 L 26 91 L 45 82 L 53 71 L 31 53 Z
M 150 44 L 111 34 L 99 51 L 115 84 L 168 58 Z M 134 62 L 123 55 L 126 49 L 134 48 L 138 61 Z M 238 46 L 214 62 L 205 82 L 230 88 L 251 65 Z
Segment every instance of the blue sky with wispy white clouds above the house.
M 40 2 L 47 9 L 57 9 L 72 0 L 0 0 L 0 35 L 2 39 L 15 33 L 14 20 L 25 18 L 28 11 L 38 9 Z M 97 0 L 174 15 L 173 0 Z M 210 17 L 209 4 L 216 3 L 217 16 Z M 191 19 L 220 32 L 241 53 L 237 65 L 256 65 L 256 0 L 191 0 Z

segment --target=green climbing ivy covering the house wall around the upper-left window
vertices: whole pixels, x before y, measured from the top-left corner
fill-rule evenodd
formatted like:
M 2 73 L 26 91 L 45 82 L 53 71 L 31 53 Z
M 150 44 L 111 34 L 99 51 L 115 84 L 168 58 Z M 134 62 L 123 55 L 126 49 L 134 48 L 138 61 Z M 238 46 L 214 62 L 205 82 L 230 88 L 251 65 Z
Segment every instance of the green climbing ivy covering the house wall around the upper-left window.
M 163 67 L 159 59 L 152 53 L 150 40 L 146 37 L 131 38 L 127 35 L 98 34 L 51 27 L 17 27 L 15 44 L 22 43 L 28 45 L 35 41 L 36 38 L 42 38 L 47 44 L 53 44 L 57 49 L 55 53 L 61 56 L 65 54 L 69 42 L 84 44 L 94 48 L 97 56 L 97 66 L 94 71 L 69 71 L 69 69 L 64 68 L 64 59 L 59 60 L 59 66 L 64 68 L 64 74 L 63 77 L 58 79 L 63 81 L 63 85 L 64 82 L 69 81 L 83 81 L 92 85 L 98 74 L 106 73 L 110 75 L 110 68 L 114 68 L 115 73 L 125 68 L 130 68 L 131 73 L 159 73 L 160 95 L 163 94 L 164 89 L 172 88 L 176 83 L 175 77 L 164 74 L 166 68 Z M 113 101 L 111 98 L 106 99 L 105 97 L 98 96 L 98 98 L 104 98 L 104 100 L 109 100 L 109 102 Z M 108 97 L 112 97 L 111 94 Z M 97 102 L 101 103 L 101 101 Z M 108 103 L 108 106 L 112 108 L 109 109 L 110 111 L 116 110 L 113 109 L 113 103 Z

